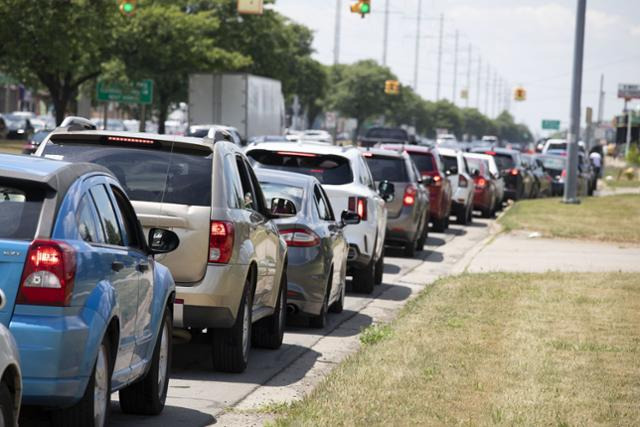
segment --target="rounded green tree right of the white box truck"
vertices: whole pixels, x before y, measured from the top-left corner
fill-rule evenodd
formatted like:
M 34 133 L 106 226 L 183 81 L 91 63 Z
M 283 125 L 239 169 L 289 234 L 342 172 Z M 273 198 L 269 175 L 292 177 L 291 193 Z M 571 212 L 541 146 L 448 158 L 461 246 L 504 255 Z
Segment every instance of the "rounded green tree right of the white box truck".
M 341 114 L 358 121 L 356 135 L 365 120 L 387 110 L 388 96 L 384 93 L 384 82 L 396 77 L 387 68 L 374 60 L 359 61 L 343 65 L 332 76 L 338 83 L 328 95 L 328 103 Z

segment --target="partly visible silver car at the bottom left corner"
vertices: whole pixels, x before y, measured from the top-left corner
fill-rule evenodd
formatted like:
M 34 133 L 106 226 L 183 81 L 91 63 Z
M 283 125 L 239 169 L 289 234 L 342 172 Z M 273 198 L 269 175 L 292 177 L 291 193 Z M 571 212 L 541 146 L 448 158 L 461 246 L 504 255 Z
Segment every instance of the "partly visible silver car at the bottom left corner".
M 0 291 L 2 292 L 2 291 Z M 5 303 L 0 295 L 0 309 Z M 22 372 L 18 348 L 11 332 L 0 323 L 0 425 L 17 426 L 22 401 Z

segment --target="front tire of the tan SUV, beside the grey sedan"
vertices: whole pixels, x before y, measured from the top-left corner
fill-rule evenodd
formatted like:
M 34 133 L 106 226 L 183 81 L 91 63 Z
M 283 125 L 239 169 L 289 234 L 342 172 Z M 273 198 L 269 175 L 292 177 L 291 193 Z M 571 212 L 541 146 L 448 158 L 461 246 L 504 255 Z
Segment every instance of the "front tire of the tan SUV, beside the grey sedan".
M 253 325 L 251 342 L 254 346 L 271 350 L 277 350 L 282 346 L 284 327 L 287 323 L 287 283 L 287 272 L 283 271 L 273 314 Z

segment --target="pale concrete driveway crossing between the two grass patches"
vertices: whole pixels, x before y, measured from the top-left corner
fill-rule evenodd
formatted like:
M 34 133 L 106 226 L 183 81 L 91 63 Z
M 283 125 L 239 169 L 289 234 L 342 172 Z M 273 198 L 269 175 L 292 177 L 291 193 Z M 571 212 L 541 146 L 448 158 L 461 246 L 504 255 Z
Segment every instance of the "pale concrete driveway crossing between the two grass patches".
M 547 239 L 518 231 L 489 241 L 464 269 L 469 273 L 640 272 L 640 245 Z

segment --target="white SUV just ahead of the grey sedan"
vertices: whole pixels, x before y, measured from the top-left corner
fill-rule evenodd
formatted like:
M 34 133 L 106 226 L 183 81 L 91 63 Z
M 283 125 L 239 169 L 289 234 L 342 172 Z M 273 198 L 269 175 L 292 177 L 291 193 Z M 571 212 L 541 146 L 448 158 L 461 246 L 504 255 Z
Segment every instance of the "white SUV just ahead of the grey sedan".
M 360 224 L 345 228 L 348 274 L 356 292 L 371 293 L 382 282 L 387 227 L 385 200 L 393 198 L 388 181 L 376 189 L 371 171 L 356 148 L 323 144 L 266 143 L 246 150 L 254 168 L 298 172 L 316 177 L 335 212 L 354 211 Z M 380 192 L 380 194 L 379 194 Z

